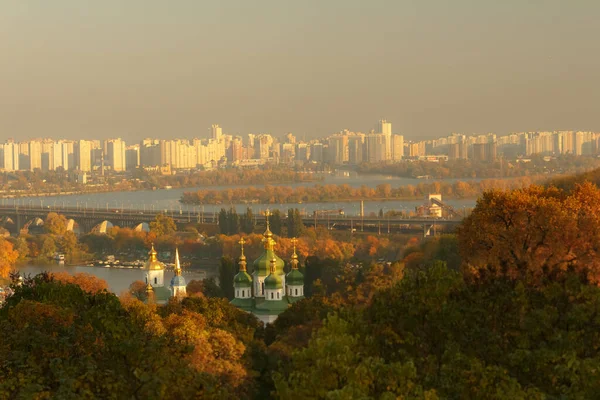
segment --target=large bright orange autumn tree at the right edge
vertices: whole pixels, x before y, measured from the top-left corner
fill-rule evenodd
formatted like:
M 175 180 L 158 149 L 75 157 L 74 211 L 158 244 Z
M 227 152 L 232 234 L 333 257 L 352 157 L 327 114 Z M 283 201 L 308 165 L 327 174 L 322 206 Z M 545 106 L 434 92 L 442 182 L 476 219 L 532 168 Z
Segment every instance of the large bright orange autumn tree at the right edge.
M 600 281 L 600 190 L 556 188 L 485 193 L 459 229 L 465 271 L 540 283 L 574 270 Z

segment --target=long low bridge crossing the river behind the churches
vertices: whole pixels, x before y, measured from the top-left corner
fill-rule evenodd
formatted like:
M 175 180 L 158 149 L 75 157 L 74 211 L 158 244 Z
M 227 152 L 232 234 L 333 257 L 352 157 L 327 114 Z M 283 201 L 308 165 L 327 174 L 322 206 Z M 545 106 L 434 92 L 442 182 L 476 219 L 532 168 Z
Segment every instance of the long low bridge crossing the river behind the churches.
M 73 220 L 71 225 L 79 226 L 80 232 L 90 232 L 99 225 L 110 222 L 112 225 L 134 228 L 139 224 L 150 223 L 154 220 L 156 211 L 142 211 L 139 209 L 98 209 L 83 207 L 37 207 L 23 205 L 2 205 L 0 206 L 0 221 L 9 230 L 19 232 L 27 227 L 37 218 L 45 219 L 48 213 L 56 212 L 64 215 L 67 219 Z M 178 226 L 184 226 L 190 223 L 218 224 L 218 213 L 199 212 L 199 211 L 171 211 L 166 215 L 173 218 Z M 366 217 L 359 215 L 343 214 L 317 214 L 303 217 L 306 226 L 323 226 L 327 229 L 352 230 L 364 232 L 396 233 L 416 231 L 423 232 L 425 236 L 435 234 L 437 230 L 453 230 L 461 222 L 461 218 L 403 218 L 403 217 Z M 255 215 L 257 225 L 265 224 L 264 215 Z

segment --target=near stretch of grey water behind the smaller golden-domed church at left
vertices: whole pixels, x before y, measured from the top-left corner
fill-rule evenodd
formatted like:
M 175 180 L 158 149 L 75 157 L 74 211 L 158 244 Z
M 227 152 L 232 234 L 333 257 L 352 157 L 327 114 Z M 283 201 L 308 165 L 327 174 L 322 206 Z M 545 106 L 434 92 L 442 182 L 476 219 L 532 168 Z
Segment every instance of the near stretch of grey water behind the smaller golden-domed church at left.
M 143 281 L 145 277 L 145 271 L 140 268 L 126 269 L 126 268 L 105 268 L 105 267 L 87 267 L 87 266 L 65 266 L 58 264 L 48 265 L 21 265 L 17 266 L 16 269 L 22 275 L 31 274 L 31 276 L 37 275 L 40 272 L 68 272 L 73 275 L 80 272 L 94 275 L 100 279 L 104 279 L 108 284 L 108 288 L 111 292 L 121 294 L 128 290 L 129 285 L 134 281 Z M 204 271 L 183 271 L 183 277 L 186 282 L 189 283 L 191 280 L 201 280 L 206 277 Z M 165 270 L 165 286 L 169 286 L 171 278 L 173 277 L 173 271 Z

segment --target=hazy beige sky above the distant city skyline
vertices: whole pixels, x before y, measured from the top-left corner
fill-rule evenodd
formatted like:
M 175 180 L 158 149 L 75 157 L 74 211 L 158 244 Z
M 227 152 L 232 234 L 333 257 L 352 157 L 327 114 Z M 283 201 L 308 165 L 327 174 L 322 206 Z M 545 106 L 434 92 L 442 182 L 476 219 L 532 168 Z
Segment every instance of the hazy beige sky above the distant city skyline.
M 600 130 L 599 0 L 0 0 L 0 140 Z

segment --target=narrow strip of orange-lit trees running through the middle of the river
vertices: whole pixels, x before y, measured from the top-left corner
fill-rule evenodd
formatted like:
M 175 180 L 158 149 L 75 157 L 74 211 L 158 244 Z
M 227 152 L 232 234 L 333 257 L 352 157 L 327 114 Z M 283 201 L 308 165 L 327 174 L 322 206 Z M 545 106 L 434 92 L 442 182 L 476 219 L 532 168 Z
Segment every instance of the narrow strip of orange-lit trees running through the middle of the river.
M 441 193 L 446 198 L 471 198 L 491 189 L 516 189 L 542 181 L 545 177 L 521 177 L 514 179 L 486 179 L 481 181 L 422 182 L 393 188 L 390 184 L 375 188 L 363 185 L 315 185 L 270 186 L 256 188 L 231 188 L 226 190 L 202 189 L 184 192 L 180 201 L 184 204 L 239 203 L 249 199 L 262 204 L 309 203 L 346 200 L 407 200 L 423 198 L 429 193 Z

